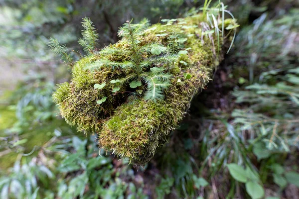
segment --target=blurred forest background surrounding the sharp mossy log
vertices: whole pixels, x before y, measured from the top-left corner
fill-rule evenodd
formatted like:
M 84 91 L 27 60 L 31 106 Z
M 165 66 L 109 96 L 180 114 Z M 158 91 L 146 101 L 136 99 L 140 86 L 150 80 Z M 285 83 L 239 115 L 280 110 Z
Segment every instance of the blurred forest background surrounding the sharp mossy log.
M 57 116 L 51 94 L 71 74 L 47 47 L 50 36 L 78 60 L 85 16 L 102 48 L 127 20 L 156 23 L 203 4 L 1 0 L 0 198 L 299 199 L 297 0 L 224 0 L 241 25 L 234 46 L 145 167 L 99 151 L 95 135 Z

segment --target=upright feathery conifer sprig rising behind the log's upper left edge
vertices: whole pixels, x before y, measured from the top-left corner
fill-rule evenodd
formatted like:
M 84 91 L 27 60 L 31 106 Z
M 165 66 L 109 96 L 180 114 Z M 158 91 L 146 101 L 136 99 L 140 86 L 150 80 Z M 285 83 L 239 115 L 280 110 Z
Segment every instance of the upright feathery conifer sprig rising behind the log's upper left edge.
M 99 34 L 88 17 L 83 18 L 82 27 L 83 30 L 81 32 L 83 38 L 80 38 L 78 42 L 85 52 L 91 53 L 97 45 Z

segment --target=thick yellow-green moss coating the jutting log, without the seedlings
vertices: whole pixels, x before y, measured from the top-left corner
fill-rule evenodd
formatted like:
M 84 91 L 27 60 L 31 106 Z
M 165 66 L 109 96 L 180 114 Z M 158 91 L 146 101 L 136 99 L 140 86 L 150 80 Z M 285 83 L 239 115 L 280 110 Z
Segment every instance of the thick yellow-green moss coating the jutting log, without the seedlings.
M 118 67 L 117 63 L 130 61 L 134 56 L 129 40 L 123 38 L 75 63 L 71 82 L 59 85 L 53 94 L 62 117 L 79 131 L 97 133 L 100 147 L 120 158 L 145 165 L 182 120 L 193 96 L 205 89 L 230 44 L 231 36 L 217 37 L 203 18 L 196 13 L 171 19 L 165 24 L 151 25 L 137 36 L 140 42 L 135 48 L 152 43 L 167 47 L 173 32 L 182 35 L 183 45 L 175 49 L 177 56 L 171 64 L 161 61 L 145 69 L 163 67 L 171 74 L 163 99 L 145 100 L 147 83 L 143 81 L 135 89 L 129 87 L 130 82 L 125 82 L 112 93 L 116 84 L 111 80 L 130 79 L 135 73 L 132 67 Z M 230 24 L 235 21 L 224 20 L 224 28 Z M 222 26 L 221 19 L 218 25 Z M 144 52 L 141 56 L 146 59 L 153 55 Z M 88 66 L 96 65 L 97 60 L 110 62 L 90 70 Z M 104 89 L 94 88 L 95 84 L 104 83 L 107 83 Z M 105 97 L 106 101 L 97 103 Z

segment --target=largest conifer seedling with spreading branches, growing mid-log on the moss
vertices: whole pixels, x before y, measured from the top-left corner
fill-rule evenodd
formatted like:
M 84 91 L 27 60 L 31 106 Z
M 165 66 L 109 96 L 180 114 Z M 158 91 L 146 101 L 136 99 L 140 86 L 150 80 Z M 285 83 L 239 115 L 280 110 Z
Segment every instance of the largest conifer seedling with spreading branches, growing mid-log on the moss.
M 147 91 L 145 93 L 146 100 L 159 100 L 163 97 L 163 89 L 166 89 L 169 85 L 169 79 L 171 78 L 171 75 L 165 72 L 163 67 L 153 67 L 150 68 L 150 70 L 148 70 L 148 68 L 155 64 L 171 64 L 176 61 L 177 56 L 175 54 L 171 54 L 169 48 L 155 42 L 140 46 L 141 38 L 139 38 L 139 36 L 143 35 L 145 31 L 150 31 L 150 29 L 147 29 L 148 27 L 149 21 L 147 19 L 144 19 L 139 24 L 131 24 L 131 22 L 127 21 L 127 23 L 125 23 L 125 25 L 120 29 L 119 36 L 121 36 L 125 42 L 128 42 L 128 44 L 130 45 L 129 50 L 131 52 L 126 52 L 122 49 L 109 48 L 105 48 L 104 51 L 100 52 L 100 55 L 106 56 L 110 55 L 110 53 L 115 53 L 115 50 L 118 51 L 117 53 L 119 55 L 131 53 L 128 61 L 126 60 L 124 62 L 115 62 L 106 58 L 97 60 L 95 63 L 87 66 L 87 68 L 91 70 L 99 70 L 99 68 L 107 66 L 113 68 L 120 67 L 121 69 L 133 69 L 132 75 L 120 80 L 116 79 L 110 81 L 111 84 L 116 85 L 116 87 L 113 88 L 112 93 L 120 91 L 120 88 L 127 82 L 130 82 L 129 85 L 132 89 L 135 89 L 137 87 L 140 88 L 142 86 L 142 83 L 145 83 L 147 85 Z M 180 38 L 177 37 L 175 39 L 179 40 Z M 175 43 L 175 45 L 182 45 L 183 42 L 179 43 L 179 41 L 171 41 L 171 43 Z M 176 51 L 176 48 L 172 50 Z M 149 54 L 145 59 L 144 56 L 147 52 L 150 52 L 151 55 Z M 106 83 L 103 83 L 102 85 L 103 86 L 101 88 L 97 89 L 103 89 L 106 86 Z M 142 92 L 143 90 L 144 89 L 141 89 L 139 91 Z M 139 93 L 132 93 L 132 95 L 138 94 Z

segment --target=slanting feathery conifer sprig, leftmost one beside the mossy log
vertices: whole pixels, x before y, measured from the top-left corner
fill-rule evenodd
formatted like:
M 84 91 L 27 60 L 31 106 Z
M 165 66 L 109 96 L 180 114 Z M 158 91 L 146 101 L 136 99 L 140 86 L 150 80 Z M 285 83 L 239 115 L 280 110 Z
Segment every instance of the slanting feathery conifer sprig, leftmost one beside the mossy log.
M 61 45 L 56 38 L 50 37 L 48 41 L 48 47 L 53 51 L 53 53 L 60 56 L 64 62 L 69 62 L 69 64 L 72 66 L 72 58 L 68 54 L 68 49 L 65 44 Z

